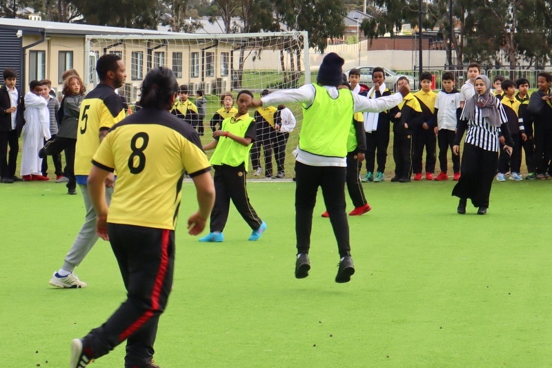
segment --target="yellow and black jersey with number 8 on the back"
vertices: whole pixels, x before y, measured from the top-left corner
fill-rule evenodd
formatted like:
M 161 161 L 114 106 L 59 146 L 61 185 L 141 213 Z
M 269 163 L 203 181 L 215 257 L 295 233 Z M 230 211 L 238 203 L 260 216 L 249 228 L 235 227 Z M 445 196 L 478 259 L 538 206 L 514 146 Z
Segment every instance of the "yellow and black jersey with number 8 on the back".
M 142 108 L 115 124 L 92 163 L 117 170 L 108 222 L 174 230 L 186 171 L 210 171 L 199 136 L 166 110 Z

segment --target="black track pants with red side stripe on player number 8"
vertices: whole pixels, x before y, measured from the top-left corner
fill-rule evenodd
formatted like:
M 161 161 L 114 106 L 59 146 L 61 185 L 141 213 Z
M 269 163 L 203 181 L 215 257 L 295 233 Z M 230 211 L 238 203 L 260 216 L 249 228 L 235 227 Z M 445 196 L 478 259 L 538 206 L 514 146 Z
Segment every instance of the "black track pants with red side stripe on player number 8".
M 108 354 L 124 340 L 125 367 L 150 367 L 175 264 L 175 232 L 142 226 L 108 224 L 108 233 L 128 291 L 113 315 L 83 339 L 90 358 Z

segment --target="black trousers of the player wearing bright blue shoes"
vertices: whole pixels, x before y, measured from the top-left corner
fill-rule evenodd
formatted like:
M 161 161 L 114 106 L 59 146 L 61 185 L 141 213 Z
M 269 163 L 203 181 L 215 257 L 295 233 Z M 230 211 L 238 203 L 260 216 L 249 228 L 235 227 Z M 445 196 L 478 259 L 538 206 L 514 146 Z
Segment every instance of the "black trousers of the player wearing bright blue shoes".
M 252 230 L 261 227 L 262 220 L 253 209 L 247 195 L 245 165 L 237 167 L 213 165 L 215 168 L 215 205 L 211 212 L 210 232 L 223 231 L 228 221 L 230 200 Z

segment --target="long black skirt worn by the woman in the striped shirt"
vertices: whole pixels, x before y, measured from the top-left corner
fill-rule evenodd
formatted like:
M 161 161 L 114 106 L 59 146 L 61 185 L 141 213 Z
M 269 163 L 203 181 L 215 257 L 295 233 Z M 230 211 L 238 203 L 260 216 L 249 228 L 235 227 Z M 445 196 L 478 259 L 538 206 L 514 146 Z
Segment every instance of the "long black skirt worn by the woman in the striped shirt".
M 462 200 L 471 199 L 475 207 L 489 207 L 491 185 L 496 174 L 498 153 L 464 143 L 460 180 L 452 195 Z

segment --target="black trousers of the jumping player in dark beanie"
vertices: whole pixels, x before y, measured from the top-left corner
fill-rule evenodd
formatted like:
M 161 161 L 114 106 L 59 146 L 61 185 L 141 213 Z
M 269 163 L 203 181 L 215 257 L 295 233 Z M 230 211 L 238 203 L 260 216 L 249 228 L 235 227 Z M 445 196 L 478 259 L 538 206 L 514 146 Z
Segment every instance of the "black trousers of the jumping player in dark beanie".
M 318 187 L 322 188 L 324 204 L 330 215 L 339 256 L 351 255 L 349 225 L 345 213 L 346 168 L 309 166 L 295 162 L 295 235 L 297 253 L 308 253 L 311 248 L 313 211 Z

